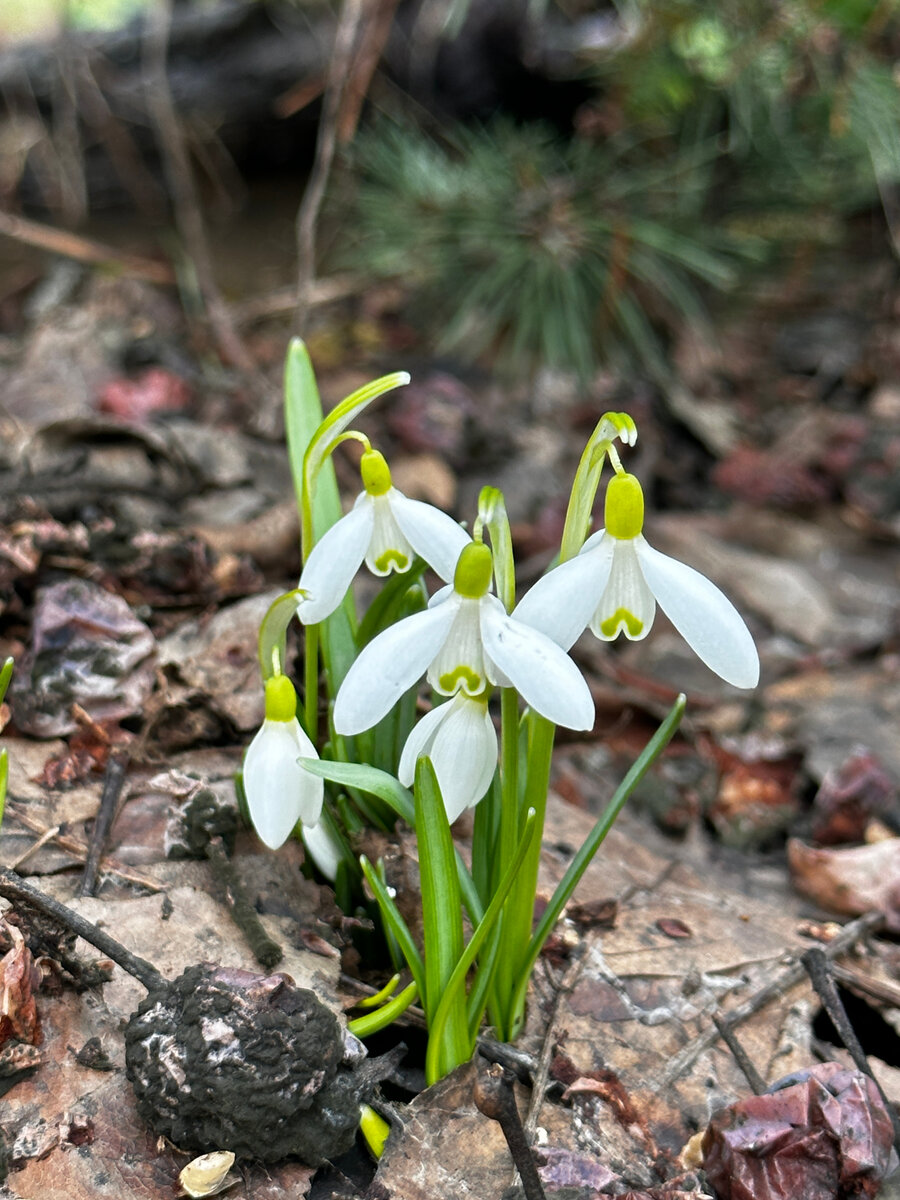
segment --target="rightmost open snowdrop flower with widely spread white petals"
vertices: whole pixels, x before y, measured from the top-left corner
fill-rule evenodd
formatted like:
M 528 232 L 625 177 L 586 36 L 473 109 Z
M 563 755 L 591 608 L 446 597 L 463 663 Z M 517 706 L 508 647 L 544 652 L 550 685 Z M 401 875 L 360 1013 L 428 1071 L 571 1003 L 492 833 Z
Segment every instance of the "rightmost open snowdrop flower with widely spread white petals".
M 659 604 L 712 671 L 736 688 L 755 688 L 760 658 L 737 608 L 700 571 L 649 546 L 642 528 L 641 485 L 616 475 L 606 491 L 606 528 L 539 580 L 514 618 L 569 649 L 588 624 L 606 642 L 620 632 L 640 641 Z

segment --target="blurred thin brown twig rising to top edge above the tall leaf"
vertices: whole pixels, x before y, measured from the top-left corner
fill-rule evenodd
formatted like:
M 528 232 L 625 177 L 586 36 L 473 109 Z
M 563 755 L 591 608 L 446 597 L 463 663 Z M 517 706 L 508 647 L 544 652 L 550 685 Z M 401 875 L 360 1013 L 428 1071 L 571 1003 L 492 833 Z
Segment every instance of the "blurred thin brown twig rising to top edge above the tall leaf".
M 316 138 L 316 157 L 310 181 L 296 212 L 296 313 L 294 328 L 299 334 L 304 332 L 310 311 L 310 289 L 316 278 L 316 227 L 319 209 L 325 198 L 331 164 L 335 160 L 341 100 L 350 73 L 362 11 L 364 0 L 344 0 L 341 19 L 335 30 L 335 46 L 331 52 L 319 131 Z

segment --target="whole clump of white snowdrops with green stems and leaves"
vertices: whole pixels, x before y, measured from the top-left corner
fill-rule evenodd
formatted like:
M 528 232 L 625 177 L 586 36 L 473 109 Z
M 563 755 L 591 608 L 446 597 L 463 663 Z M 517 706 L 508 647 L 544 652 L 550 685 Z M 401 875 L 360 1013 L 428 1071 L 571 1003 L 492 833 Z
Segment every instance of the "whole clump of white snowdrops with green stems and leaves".
M 568 653 L 576 638 L 587 628 L 604 641 L 646 637 L 659 604 L 707 666 L 736 686 L 755 686 L 758 658 L 722 593 L 644 540 L 641 485 L 617 449 L 637 439 L 630 416 L 606 413 L 598 422 L 575 476 L 557 565 L 516 602 L 500 492 L 485 487 L 463 528 L 394 487 L 383 455 L 352 427 L 372 401 L 408 382 L 403 372 L 377 379 L 323 419 L 306 348 L 290 346 L 286 424 L 304 568 L 260 630 L 265 721 L 246 754 L 244 790 L 262 840 L 275 850 L 300 836 L 338 898 L 349 899 L 365 876 L 389 949 L 412 982 L 395 995 L 395 976 L 350 1027 L 374 1032 L 418 997 L 428 1026 L 426 1075 L 434 1081 L 472 1056 L 482 1020 L 500 1039 L 516 1037 L 544 942 L 684 709 L 682 696 L 533 926 L 556 726 L 594 725 L 590 690 Z M 344 515 L 331 455 L 347 439 L 362 444 L 362 456 L 361 491 Z M 607 463 L 604 528 L 589 535 Z M 360 616 L 352 582 L 364 563 L 384 584 Z M 426 569 L 444 583 L 431 596 Z M 284 671 L 294 617 L 305 632 L 302 703 Z M 422 677 L 430 707 L 420 716 Z M 470 808 L 467 866 L 450 826 Z M 422 944 L 382 864 L 352 852 L 361 828 L 388 829 L 397 818 L 418 836 Z

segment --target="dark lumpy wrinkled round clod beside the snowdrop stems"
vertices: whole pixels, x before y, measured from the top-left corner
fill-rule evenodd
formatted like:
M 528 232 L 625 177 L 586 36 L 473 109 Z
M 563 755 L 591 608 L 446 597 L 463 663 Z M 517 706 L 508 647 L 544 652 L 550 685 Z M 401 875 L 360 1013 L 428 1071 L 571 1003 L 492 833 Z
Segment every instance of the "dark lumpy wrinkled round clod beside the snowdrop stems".
M 341 1024 L 288 976 L 190 967 L 133 1014 L 125 1061 L 142 1117 L 186 1150 L 318 1166 L 353 1145 Z

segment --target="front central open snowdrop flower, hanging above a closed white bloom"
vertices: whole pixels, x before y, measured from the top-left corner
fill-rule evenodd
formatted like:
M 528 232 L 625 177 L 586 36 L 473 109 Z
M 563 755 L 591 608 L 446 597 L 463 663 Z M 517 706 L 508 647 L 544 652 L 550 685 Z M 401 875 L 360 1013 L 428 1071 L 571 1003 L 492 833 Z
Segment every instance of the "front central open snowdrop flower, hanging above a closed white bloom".
M 364 648 L 335 701 L 338 733 L 360 733 L 380 721 L 424 672 L 444 696 L 479 696 L 491 683 L 511 686 L 556 725 L 593 726 L 594 702 L 581 672 L 548 637 L 506 613 L 488 593 L 491 571 L 491 551 L 469 542 L 452 587 Z

